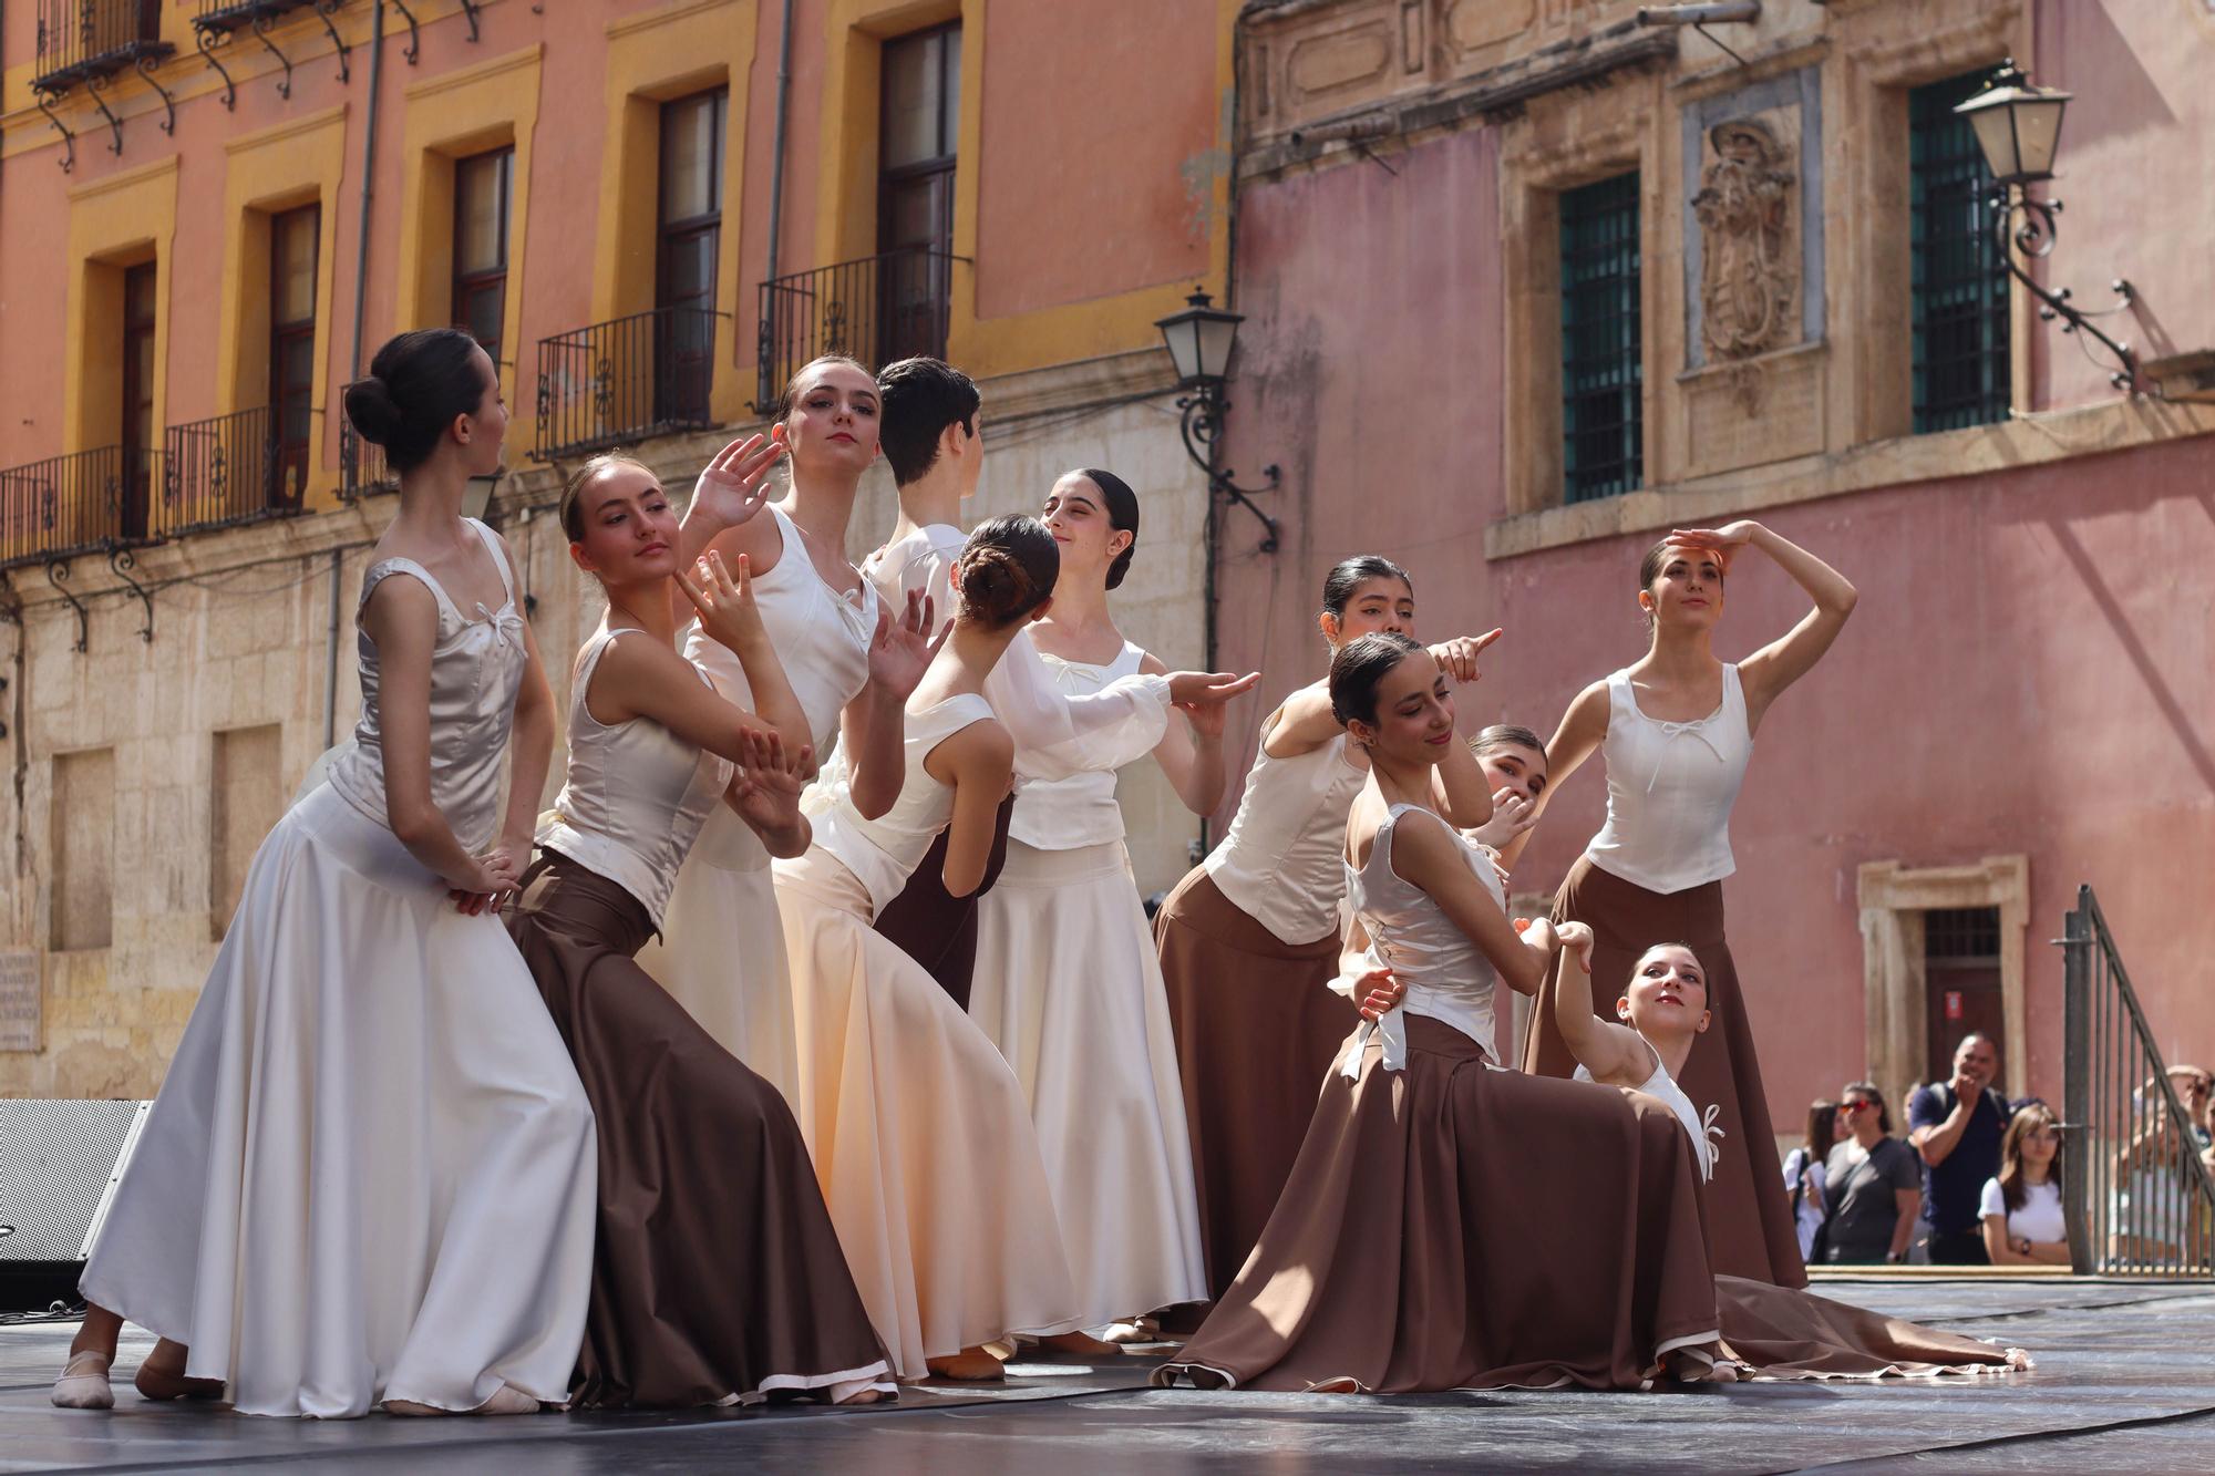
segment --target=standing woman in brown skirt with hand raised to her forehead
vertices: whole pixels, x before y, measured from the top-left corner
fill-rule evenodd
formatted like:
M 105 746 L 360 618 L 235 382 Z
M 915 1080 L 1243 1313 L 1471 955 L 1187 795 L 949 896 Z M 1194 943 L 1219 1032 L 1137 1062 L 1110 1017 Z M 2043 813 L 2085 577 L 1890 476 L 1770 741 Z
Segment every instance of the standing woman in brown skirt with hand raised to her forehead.
M 1743 547 L 1774 558 L 1814 598 L 1799 625 L 1741 663 L 1714 656 L 1723 574 Z M 1652 629 L 1646 656 L 1586 687 L 1546 760 L 1553 793 L 1601 751 L 1608 822 L 1570 867 L 1555 922 L 1588 922 L 1599 977 L 1630 973 L 1650 944 L 1683 942 L 1708 962 L 1721 1031 L 1692 1050 L 1686 1088 L 1719 1110 L 1723 1157 L 1714 1170 L 1714 1268 L 1779 1285 L 1805 1285 L 1792 1208 L 1776 1192 L 1783 1168 L 1754 1062 L 1754 1028 L 1723 942 L 1730 807 L 1745 778 L 1754 731 L 1785 687 L 1805 676 L 1854 609 L 1854 585 L 1761 523 L 1672 532 L 1639 563 L 1639 607 Z M 1511 842 L 1506 860 L 1528 838 Z M 1595 1006 L 1601 1002 L 1593 1000 Z M 1575 1057 L 1548 1011 L 1524 1039 L 1524 1070 L 1566 1077 Z

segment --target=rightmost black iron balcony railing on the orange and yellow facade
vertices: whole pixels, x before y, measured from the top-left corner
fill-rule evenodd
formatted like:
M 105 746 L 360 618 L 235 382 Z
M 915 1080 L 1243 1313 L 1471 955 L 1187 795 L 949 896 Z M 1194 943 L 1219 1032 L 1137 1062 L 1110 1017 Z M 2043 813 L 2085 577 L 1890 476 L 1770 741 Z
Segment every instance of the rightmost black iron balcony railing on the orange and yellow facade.
M 873 368 L 915 355 L 944 359 L 961 259 L 910 246 L 764 281 L 755 410 L 769 410 L 793 372 L 822 355 Z

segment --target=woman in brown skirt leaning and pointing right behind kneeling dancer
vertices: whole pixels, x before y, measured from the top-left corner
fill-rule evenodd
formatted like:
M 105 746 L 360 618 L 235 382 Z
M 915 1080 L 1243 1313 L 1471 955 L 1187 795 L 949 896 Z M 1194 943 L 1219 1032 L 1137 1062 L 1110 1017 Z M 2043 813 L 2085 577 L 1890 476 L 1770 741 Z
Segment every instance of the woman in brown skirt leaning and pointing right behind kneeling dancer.
M 1322 581 L 1322 640 L 1413 634 L 1415 587 L 1391 558 L 1347 558 Z M 1497 634 L 1497 632 L 1493 632 Z M 1477 680 L 1491 636 L 1431 647 L 1455 680 Z M 1455 745 L 1460 747 L 1460 745 Z M 1444 765 L 1469 793 L 1455 824 L 1482 824 L 1484 780 L 1469 754 Z M 1338 977 L 1338 900 L 1347 889 L 1347 809 L 1367 778 L 1360 747 L 1318 680 L 1260 725 L 1238 813 L 1205 862 L 1154 915 L 1192 1135 L 1207 1296 L 1245 1265 L 1300 1152 L 1316 1086 L 1353 1028 Z M 1466 804 L 1466 809 L 1464 809 Z

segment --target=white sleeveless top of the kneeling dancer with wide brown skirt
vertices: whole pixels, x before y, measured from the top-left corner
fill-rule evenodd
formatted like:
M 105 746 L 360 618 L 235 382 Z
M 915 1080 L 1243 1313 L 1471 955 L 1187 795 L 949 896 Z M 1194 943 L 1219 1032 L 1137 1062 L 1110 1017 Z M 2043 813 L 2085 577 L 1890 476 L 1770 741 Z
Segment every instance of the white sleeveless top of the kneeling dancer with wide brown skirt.
M 1471 875 L 1484 884 L 1491 900 L 1506 913 L 1506 895 L 1500 891 L 1500 873 L 1491 860 L 1462 840 L 1444 816 L 1420 804 L 1393 804 L 1378 827 L 1378 838 L 1369 847 L 1369 862 L 1353 867 L 1345 862 L 1347 902 L 1369 933 L 1369 960 L 1389 966 L 1393 977 L 1407 984 L 1400 1004 L 1378 1022 L 1362 1022 L 1353 1033 L 1353 1048 L 1347 1050 L 1345 1075 L 1362 1075 L 1362 1046 L 1369 1035 L 1384 1035 L 1384 1070 L 1407 1068 L 1407 1019 L 1402 1015 L 1429 1015 L 1442 1019 L 1475 1044 L 1488 1057 L 1493 1053 L 1493 962 L 1484 951 L 1446 918 L 1446 911 L 1431 900 L 1422 886 L 1404 880 L 1391 869 L 1391 838 L 1400 822 L 1413 816 L 1413 824 L 1435 824 L 1469 862 Z

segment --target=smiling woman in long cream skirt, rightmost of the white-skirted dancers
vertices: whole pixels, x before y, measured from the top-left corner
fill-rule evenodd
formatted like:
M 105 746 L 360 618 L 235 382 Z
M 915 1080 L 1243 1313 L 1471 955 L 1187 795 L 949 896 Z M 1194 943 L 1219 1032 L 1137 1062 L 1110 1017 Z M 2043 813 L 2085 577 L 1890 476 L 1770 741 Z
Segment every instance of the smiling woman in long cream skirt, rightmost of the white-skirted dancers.
M 1030 627 L 1054 683 L 1092 694 L 1167 676 L 1108 614 L 1139 539 L 1114 472 L 1068 472 L 1043 514 L 1061 554 L 1054 605 Z M 1154 760 L 1196 816 L 1223 800 L 1220 703 L 1183 707 Z M 1114 769 L 1030 780 L 1008 860 L 977 904 L 970 1019 L 1008 1057 L 1039 1128 L 1085 1325 L 1207 1294 L 1176 1039 L 1123 847 Z

